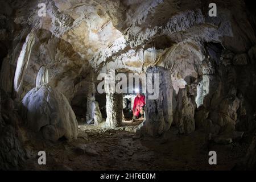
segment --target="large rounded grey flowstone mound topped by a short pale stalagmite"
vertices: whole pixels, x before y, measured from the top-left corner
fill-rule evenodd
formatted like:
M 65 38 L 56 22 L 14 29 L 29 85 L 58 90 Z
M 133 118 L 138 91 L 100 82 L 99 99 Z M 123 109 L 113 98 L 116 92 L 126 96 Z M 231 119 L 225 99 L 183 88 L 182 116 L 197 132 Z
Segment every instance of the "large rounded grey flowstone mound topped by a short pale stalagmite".
M 76 139 L 76 115 L 65 96 L 48 85 L 48 70 L 41 67 L 36 77 L 36 87 L 24 96 L 24 119 L 28 127 L 42 133 L 43 138 L 56 142 L 61 137 Z

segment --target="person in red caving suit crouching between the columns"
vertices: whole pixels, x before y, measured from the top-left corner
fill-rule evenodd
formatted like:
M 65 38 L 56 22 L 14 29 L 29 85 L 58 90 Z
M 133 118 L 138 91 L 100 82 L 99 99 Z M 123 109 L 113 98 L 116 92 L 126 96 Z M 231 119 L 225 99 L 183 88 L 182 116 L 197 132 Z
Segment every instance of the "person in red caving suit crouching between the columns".
M 140 93 L 137 93 L 137 96 L 134 98 L 133 105 L 133 120 L 139 118 L 139 114 L 144 114 L 144 105 L 145 105 L 145 96 Z

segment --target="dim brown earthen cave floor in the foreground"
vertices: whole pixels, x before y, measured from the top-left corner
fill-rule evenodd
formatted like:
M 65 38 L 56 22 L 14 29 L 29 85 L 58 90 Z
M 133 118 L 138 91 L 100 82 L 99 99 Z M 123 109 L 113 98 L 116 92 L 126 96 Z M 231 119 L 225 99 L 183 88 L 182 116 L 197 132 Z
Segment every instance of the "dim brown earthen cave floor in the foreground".
M 79 126 L 73 142 L 27 142 L 27 170 L 230 170 L 245 157 L 242 143 L 205 144 L 195 131 L 177 135 L 175 128 L 159 138 L 136 138 L 135 133 Z M 39 165 L 37 152 L 46 151 L 47 164 Z M 217 165 L 210 166 L 208 152 L 217 152 Z

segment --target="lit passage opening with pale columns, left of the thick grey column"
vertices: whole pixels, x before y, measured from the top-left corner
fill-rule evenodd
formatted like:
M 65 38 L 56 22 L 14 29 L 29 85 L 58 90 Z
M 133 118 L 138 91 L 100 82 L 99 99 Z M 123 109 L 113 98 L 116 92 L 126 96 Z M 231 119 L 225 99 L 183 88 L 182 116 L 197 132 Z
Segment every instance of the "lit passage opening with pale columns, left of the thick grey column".
M 110 77 L 104 77 L 102 80 L 94 78 L 93 80 L 96 81 L 89 83 L 93 86 L 76 93 L 71 105 L 80 127 L 90 130 L 123 129 L 135 133 L 139 125 L 144 122 L 144 114 L 139 114 L 139 118 L 133 119 L 133 106 L 138 92 L 146 96 L 146 88 L 143 88 L 146 85 L 146 79 L 143 77 L 146 76 L 145 72 L 139 74 L 133 71 L 115 72 L 117 75 L 119 73 L 125 75 L 127 80 L 118 76 L 115 80 L 108 80 Z M 101 86 L 103 93 L 98 90 L 102 81 L 105 83 Z M 113 82 L 115 82 L 114 89 L 122 90 L 121 93 L 110 92 L 112 89 L 110 84 Z M 123 91 L 125 89 L 126 91 Z M 101 121 L 96 121 L 98 119 L 96 115 L 100 115 Z

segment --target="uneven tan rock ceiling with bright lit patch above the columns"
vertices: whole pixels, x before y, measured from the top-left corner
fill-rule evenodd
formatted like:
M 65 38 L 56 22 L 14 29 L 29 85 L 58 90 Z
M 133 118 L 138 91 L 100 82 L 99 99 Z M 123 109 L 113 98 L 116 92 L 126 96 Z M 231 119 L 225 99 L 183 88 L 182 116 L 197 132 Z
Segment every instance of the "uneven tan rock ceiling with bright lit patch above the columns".
M 46 16 L 38 15 L 38 1 L 3 3 L 1 37 L 6 43 L 14 40 L 13 47 L 3 44 L 11 49 L 11 65 L 28 32 L 36 36 L 28 65 L 32 71 L 24 76 L 26 91 L 34 86 L 42 64 L 49 69 L 50 83 L 72 95 L 65 83 L 79 87 L 88 67 L 97 72 L 114 68 L 141 73 L 160 65 L 171 69 L 174 77 L 199 77 L 205 42 L 220 43 L 236 53 L 248 51 L 255 42 L 242 1 L 217 2 L 217 17 L 208 16 L 205 1 L 40 3 L 46 5 Z

